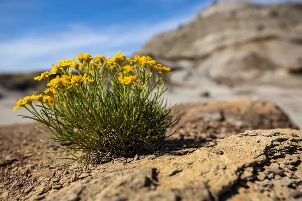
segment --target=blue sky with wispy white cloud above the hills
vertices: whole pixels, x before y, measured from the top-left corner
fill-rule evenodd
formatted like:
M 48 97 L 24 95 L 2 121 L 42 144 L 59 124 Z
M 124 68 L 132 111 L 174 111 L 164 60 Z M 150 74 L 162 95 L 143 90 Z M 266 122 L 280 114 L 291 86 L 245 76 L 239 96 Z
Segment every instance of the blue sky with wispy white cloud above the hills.
M 189 22 L 211 2 L 0 0 L 0 73 L 47 70 L 80 52 L 113 56 L 121 50 L 130 56 L 152 36 Z

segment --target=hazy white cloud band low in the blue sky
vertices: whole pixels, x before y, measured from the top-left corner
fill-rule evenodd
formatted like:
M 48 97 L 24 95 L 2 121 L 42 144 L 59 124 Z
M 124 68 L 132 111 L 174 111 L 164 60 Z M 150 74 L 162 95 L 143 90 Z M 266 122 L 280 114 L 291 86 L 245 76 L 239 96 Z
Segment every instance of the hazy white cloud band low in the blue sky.
M 155 24 L 116 25 L 105 30 L 72 24 L 61 32 L 32 32 L 22 38 L 0 42 L 0 72 L 50 68 L 52 63 L 74 58 L 79 52 L 113 56 L 122 50 L 129 55 L 153 35 L 175 29 L 193 16 L 179 16 Z

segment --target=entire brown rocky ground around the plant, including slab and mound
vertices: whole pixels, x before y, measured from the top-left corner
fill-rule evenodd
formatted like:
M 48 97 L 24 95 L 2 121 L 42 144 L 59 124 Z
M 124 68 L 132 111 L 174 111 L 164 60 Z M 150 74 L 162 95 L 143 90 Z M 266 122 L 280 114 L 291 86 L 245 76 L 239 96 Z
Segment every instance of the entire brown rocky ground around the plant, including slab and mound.
M 177 132 L 158 151 L 99 165 L 50 168 L 66 161 L 46 152 L 59 147 L 40 142 L 36 124 L 0 127 L 0 200 L 302 199 L 302 132 L 274 104 L 177 108 Z

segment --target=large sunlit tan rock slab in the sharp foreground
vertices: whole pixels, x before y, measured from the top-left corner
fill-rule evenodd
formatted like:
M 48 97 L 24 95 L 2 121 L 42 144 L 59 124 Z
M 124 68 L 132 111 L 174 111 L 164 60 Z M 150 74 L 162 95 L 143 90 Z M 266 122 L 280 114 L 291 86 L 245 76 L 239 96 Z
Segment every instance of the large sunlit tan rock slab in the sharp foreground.
M 131 163 L 106 163 L 102 170 L 92 172 L 92 179 L 75 181 L 46 199 L 73 200 L 69 198 L 77 198 L 79 192 L 85 195 L 81 200 L 296 198 L 300 196 L 302 187 L 295 185 L 293 189 L 292 184 L 299 183 L 299 179 L 286 175 L 268 178 L 271 171 L 276 172 L 280 168 L 284 171 L 273 159 L 274 154 L 282 150 L 287 158 L 289 155 L 291 158 L 300 157 L 301 140 L 302 131 L 292 129 L 247 131 L 181 156 L 161 155 L 153 160 L 144 157 Z M 280 141 L 284 143 L 273 143 Z M 215 154 L 214 150 L 221 150 L 223 154 Z M 265 157 L 259 157 L 261 155 Z M 280 159 L 284 158 L 285 155 Z M 292 173 L 302 169 L 300 163 L 295 165 L 296 170 L 289 170 Z M 258 175 L 257 171 L 260 171 Z M 257 179 L 260 175 L 261 181 Z

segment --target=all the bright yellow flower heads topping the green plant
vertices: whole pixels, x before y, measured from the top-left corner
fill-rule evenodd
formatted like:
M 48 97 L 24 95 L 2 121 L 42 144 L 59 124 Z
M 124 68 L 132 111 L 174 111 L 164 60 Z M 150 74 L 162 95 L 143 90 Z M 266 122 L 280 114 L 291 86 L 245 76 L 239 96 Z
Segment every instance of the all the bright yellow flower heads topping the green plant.
M 130 86 L 136 86 L 139 83 L 139 78 L 137 78 L 136 72 L 140 67 L 146 68 L 148 66 L 151 72 L 156 71 L 160 74 L 171 73 L 171 69 L 169 67 L 158 64 L 157 61 L 153 60 L 153 58 L 150 56 L 135 55 L 134 59 L 132 60 L 121 54 L 120 51 L 116 53 L 112 58 L 105 58 L 103 55 L 96 55 L 95 57 L 92 57 L 89 53 L 79 53 L 75 58 L 77 58 L 78 60 L 72 60 L 71 58 L 60 60 L 56 65 L 51 65 L 53 66 L 53 68 L 50 71 L 42 72 L 40 76 L 35 77 L 35 80 L 40 81 L 42 79 L 45 79 L 48 82 L 48 88 L 46 88 L 43 93 L 44 96 L 42 96 L 42 94 L 33 94 L 32 96 L 21 98 L 18 100 L 16 106 L 14 107 L 14 111 L 16 109 L 19 109 L 20 106 L 31 106 L 33 100 L 35 99 L 38 100 L 41 104 L 47 104 L 48 106 L 51 106 L 54 103 L 53 97 L 56 95 L 56 88 L 68 89 L 72 86 L 80 87 L 81 82 L 83 82 L 84 80 L 87 80 L 88 84 L 92 84 L 94 83 L 94 78 L 91 76 L 94 76 L 94 72 L 96 72 L 96 70 L 98 69 L 113 70 L 115 66 L 119 66 L 117 68 L 118 74 L 120 75 L 118 77 L 118 80 L 121 83 Z M 137 64 L 133 66 L 122 66 L 125 61 L 129 62 L 130 64 L 132 62 L 136 62 Z M 110 68 L 101 68 L 100 66 L 107 66 Z M 73 70 L 76 70 L 79 74 L 72 74 Z M 147 75 L 151 74 L 152 73 L 149 73 Z M 56 77 L 50 80 L 50 75 L 56 75 Z

